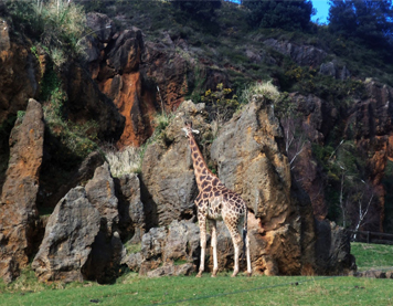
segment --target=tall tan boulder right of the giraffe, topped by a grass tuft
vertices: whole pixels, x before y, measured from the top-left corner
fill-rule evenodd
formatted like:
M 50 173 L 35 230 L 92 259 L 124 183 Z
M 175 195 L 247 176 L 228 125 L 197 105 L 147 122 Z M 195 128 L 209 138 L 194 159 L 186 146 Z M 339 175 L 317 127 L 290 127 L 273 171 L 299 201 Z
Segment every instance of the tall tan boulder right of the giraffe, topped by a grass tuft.
M 268 275 L 300 274 L 305 266 L 315 267 L 314 226 L 307 225 L 314 222 L 307 213 L 310 202 L 291 187 L 283 141 L 273 105 L 255 96 L 221 128 L 211 148 L 220 179 L 242 196 L 258 220 L 249 225 L 253 270 Z M 305 205 L 302 215 L 300 205 Z M 302 232 L 304 226 L 310 232 Z

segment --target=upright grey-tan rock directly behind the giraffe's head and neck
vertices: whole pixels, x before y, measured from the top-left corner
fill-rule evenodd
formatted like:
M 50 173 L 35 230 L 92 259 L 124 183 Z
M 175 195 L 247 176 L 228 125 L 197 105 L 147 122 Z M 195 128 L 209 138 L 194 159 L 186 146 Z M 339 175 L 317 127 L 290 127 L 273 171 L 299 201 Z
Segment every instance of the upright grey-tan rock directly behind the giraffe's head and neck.
M 181 130 L 184 117 L 192 118 L 201 137 L 211 137 L 210 126 L 204 123 L 204 104 L 194 105 L 187 101 L 158 140 L 146 148 L 141 192 L 147 229 L 195 215 L 193 200 L 198 188 L 190 149 Z

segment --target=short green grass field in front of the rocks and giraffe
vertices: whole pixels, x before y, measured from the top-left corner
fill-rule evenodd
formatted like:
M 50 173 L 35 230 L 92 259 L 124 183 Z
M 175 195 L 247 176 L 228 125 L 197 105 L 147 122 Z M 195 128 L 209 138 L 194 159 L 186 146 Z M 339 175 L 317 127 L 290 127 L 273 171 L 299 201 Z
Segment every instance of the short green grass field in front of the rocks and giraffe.
M 393 266 L 393 246 L 352 244 L 360 271 Z M 44 285 L 26 271 L 0 283 L 0 305 L 393 305 L 393 279 L 253 276 L 221 273 L 146 278 L 135 273 L 115 285 Z

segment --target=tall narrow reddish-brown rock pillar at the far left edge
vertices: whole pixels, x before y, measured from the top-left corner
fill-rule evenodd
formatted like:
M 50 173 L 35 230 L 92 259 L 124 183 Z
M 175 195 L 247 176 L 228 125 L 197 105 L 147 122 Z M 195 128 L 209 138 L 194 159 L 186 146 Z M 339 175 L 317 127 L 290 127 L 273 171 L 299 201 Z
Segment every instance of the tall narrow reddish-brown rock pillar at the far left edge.
M 32 254 L 39 222 L 35 207 L 43 156 L 41 104 L 29 101 L 10 136 L 10 161 L 0 198 L 0 277 L 12 281 Z

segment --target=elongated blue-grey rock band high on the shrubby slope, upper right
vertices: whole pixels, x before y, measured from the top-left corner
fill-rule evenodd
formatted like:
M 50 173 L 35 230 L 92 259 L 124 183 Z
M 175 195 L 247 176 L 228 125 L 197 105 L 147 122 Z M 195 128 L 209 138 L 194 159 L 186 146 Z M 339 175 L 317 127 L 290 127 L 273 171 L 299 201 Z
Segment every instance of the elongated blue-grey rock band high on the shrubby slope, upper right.
M 293 59 L 299 66 L 319 66 L 328 55 L 323 50 L 312 45 L 297 45 L 288 41 L 268 39 L 264 44 Z

